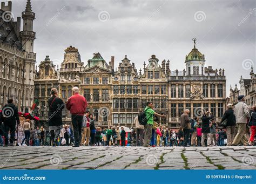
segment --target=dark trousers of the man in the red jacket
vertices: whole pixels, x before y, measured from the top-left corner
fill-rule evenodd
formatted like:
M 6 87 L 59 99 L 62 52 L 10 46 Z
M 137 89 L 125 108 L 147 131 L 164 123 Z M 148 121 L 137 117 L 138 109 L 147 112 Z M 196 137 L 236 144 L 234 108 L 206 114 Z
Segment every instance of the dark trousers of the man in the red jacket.
M 72 125 L 74 129 L 74 137 L 75 137 L 75 146 L 80 145 L 81 132 L 82 132 L 82 124 L 83 124 L 83 115 L 71 115 Z

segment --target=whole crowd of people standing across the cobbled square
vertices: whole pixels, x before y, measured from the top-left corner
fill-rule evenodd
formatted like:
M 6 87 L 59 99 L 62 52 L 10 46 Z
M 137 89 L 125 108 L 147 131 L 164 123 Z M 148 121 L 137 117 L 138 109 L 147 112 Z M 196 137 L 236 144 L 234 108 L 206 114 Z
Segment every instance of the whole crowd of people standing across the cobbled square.
M 87 101 L 78 93 L 79 88 L 73 87 L 73 96 L 64 103 L 58 97 L 56 88 L 51 89 L 48 99 L 49 132 L 43 126 L 33 130 L 31 121 L 26 119 L 24 139 L 21 145 L 26 146 L 239 146 L 253 145 L 256 133 L 256 106 L 248 107 L 245 96 L 238 97 L 238 103 L 233 107 L 228 104 L 220 123 L 214 120 L 210 111 L 204 111 L 201 116 L 190 118 L 190 110 L 185 110 L 180 117 L 178 130 L 171 130 L 161 124 L 153 103 L 147 102 L 144 111 L 146 124 L 139 122 L 139 115 L 134 119 L 133 131 L 127 136 L 124 127 L 95 126 L 96 117 L 86 110 Z M 62 110 L 65 107 L 71 113 L 72 126 L 63 125 Z M 19 124 L 18 110 L 12 99 L 4 107 L 12 108 L 13 114 L 5 117 L 0 113 L 0 145 L 14 146 L 16 124 Z M 3 122 L 3 123 L 2 123 Z M 2 135 L 4 140 L 2 139 Z M 10 142 L 9 142 L 10 138 Z

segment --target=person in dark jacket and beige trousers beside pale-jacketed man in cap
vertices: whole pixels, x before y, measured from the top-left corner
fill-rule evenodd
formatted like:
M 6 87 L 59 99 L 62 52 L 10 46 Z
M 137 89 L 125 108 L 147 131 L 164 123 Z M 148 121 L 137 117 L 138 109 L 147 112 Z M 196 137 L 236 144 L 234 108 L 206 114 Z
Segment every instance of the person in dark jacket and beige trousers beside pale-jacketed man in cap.
M 227 146 L 231 146 L 235 137 L 235 115 L 232 104 L 227 104 L 227 107 L 228 110 L 225 111 L 220 124 L 221 122 L 227 120 L 227 125 L 224 128 L 226 128 L 227 132 Z

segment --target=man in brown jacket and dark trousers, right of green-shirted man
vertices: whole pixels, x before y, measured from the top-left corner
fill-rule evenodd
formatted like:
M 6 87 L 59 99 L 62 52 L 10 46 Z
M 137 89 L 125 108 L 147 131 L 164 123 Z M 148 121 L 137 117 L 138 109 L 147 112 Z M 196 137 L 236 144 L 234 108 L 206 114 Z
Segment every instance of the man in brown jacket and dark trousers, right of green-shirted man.
M 188 118 L 188 114 L 190 113 L 190 110 L 186 109 L 184 113 L 180 117 L 181 127 L 183 128 L 184 133 L 184 146 L 188 146 L 188 139 L 190 137 L 190 118 Z

